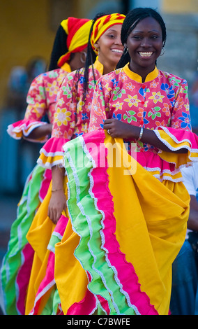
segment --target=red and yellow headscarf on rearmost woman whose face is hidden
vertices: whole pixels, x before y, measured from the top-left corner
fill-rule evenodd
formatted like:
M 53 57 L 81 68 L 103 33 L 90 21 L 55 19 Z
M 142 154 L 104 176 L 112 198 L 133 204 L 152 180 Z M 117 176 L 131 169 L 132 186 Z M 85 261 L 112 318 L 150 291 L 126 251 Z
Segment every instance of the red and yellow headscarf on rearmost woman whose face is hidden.
M 58 65 L 61 67 L 70 59 L 72 52 L 80 52 L 86 48 L 89 31 L 91 29 L 92 21 L 86 18 L 69 17 L 67 20 L 61 22 L 61 27 L 67 34 L 67 48 L 68 52 L 59 58 Z

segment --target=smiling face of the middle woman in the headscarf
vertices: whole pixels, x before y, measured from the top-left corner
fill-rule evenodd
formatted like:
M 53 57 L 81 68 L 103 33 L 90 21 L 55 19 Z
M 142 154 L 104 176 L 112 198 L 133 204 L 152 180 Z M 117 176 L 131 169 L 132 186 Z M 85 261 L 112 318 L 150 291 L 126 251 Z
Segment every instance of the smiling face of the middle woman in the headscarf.
M 121 27 L 121 24 L 109 27 L 95 44 L 95 47 L 98 48 L 98 59 L 103 65 L 109 62 L 115 68 L 121 59 L 123 53 Z

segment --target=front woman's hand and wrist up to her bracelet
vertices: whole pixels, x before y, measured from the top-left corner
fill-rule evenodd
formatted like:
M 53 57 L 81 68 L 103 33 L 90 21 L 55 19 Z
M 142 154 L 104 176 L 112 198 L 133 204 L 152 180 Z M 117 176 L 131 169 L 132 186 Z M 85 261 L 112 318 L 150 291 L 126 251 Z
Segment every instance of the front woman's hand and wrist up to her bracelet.
M 108 131 L 111 137 L 122 139 L 137 139 L 139 137 L 139 127 L 128 125 L 117 119 L 107 119 L 104 122 L 104 129 Z

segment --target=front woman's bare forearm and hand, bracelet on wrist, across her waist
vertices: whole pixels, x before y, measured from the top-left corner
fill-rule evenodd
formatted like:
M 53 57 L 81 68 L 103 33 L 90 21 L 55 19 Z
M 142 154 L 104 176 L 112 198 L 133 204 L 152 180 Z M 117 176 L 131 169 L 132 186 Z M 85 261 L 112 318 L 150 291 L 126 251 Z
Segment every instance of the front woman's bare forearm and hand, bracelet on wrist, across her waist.
M 122 138 L 122 139 L 136 139 L 138 140 L 140 134 L 140 127 L 129 125 L 128 123 L 123 123 L 120 120 L 114 118 L 105 120 L 104 129 L 109 130 L 111 137 L 113 138 Z M 150 144 L 156 148 L 159 148 L 162 151 L 174 152 L 167 148 L 165 144 L 158 139 L 155 132 L 149 129 L 143 129 L 143 134 L 141 141 L 146 144 Z M 181 148 L 175 153 L 188 153 L 188 150 Z

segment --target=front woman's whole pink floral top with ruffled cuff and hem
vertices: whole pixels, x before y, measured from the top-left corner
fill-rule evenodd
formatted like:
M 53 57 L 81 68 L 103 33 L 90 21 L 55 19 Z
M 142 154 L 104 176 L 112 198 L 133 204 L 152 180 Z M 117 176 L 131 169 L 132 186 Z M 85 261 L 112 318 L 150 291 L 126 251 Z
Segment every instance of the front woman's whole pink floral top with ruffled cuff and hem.
M 142 83 L 142 78 L 130 71 L 127 64 L 102 76 L 93 95 L 89 131 L 102 129 L 106 118 L 116 118 L 129 125 L 154 130 L 171 150 L 184 147 L 183 143 L 188 141 L 186 148 L 189 154 L 183 160 L 182 155 L 176 160 L 172 153 L 165 153 L 142 141 L 133 141 L 137 143 L 137 161 L 148 171 L 156 172 L 155 176 L 159 179 L 167 177 L 172 180 L 173 172 L 180 172 L 178 167 L 197 159 L 195 153 L 198 151 L 198 142 L 191 132 L 188 85 L 186 80 L 173 74 L 155 67 Z M 130 148 L 131 141 L 126 142 L 131 154 L 134 151 Z M 157 154 L 160 155 L 158 161 L 155 157 Z M 175 177 L 180 179 L 181 176 Z

